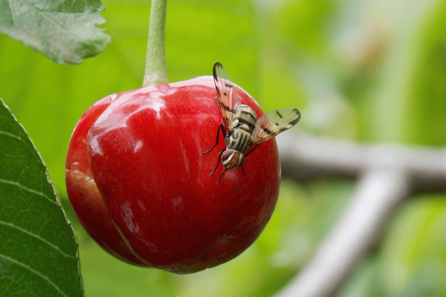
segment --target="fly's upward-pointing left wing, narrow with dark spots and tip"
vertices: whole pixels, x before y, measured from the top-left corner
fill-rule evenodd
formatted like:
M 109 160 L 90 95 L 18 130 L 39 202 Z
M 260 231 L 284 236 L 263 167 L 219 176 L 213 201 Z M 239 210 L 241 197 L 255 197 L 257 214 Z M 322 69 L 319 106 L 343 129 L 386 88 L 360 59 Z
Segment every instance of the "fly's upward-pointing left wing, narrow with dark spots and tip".
M 231 78 L 229 78 L 229 74 L 227 74 L 220 62 L 215 62 L 213 73 L 215 89 L 217 89 L 218 95 L 217 105 L 222 113 L 224 126 L 226 127 L 226 130 L 228 130 L 232 122 L 232 111 L 234 110 L 234 107 L 241 102 L 240 96 L 237 93 L 237 90 L 235 90 L 234 84 L 232 83 Z

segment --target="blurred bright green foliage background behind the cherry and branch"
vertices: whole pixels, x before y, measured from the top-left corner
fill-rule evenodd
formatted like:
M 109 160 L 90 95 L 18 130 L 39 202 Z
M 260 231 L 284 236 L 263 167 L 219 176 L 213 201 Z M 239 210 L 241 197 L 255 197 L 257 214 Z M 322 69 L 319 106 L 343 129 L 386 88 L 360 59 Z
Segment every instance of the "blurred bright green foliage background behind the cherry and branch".
M 78 118 L 108 94 L 139 88 L 149 1 L 104 0 L 111 44 L 57 65 L 0 36 L 0 97 L 28 131 L 79 239 L 87 297 L 270 296 L 314 252 L 355 183 L 284 178 L 268 227 L 241 256 L 187 276 L 140 269 L 103 252 L 66 199 L 65 155 Z M 169 81 L 211 75 L 220 61 L 264 110 L 301 110 L 296 130 L 365 142 L 443 146 L 446 1 L 169 0 Z M 418 195 L 335 296 L 446 296 L 446 195 Z

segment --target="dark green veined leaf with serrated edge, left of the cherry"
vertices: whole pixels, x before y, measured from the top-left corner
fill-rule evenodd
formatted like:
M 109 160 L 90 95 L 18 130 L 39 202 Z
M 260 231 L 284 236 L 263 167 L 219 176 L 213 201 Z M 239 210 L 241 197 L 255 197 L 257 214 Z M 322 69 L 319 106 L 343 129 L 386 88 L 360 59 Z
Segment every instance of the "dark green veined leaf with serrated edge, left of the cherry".
M 0 99 L 1 296 L 83 296 L 78 243 L 50 175 Z

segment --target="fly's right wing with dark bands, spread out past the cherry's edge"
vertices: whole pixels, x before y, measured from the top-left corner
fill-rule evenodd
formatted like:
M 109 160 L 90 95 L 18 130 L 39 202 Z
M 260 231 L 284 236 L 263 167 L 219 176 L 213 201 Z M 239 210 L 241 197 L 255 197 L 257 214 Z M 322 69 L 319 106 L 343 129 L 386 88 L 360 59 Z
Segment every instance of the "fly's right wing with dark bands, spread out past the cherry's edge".
M 257 119 L 252 134 L 252 144 L 256 145 L 273 138 L 296 125 L 300 119 L 301 113 L 297 108 L 285 107 L 268 111 Z

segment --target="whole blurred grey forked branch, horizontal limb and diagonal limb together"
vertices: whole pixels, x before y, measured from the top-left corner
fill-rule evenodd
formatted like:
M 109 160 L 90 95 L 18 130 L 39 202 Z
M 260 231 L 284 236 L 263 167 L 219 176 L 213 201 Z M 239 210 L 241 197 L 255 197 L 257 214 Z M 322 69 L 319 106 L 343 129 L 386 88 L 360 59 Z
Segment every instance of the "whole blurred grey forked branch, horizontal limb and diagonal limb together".
M 444 148 L 366 145 L 283 133 L 282 171 L 300 181 L 359 177 L 343 217 L 307 264 L 276 297 L 330 296 L 379 235 L 392 209 L 413 191 L 444 190 Z

